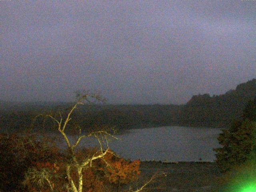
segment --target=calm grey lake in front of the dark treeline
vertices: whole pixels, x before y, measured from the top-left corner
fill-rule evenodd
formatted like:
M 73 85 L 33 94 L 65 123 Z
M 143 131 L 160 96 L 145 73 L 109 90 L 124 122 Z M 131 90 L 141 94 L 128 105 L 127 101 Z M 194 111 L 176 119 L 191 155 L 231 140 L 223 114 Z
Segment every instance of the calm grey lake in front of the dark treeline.
M 118 135 L 109 146 L 123 158 L 156 161 L 214 161 L 212 148 L 220 147 L 220 128 L 192 128 L 164 126 L 131 129 Z M 71 137 L 70 137 L 71 138 Z M 86 140 L 86 146 L 94 146 L 95 140 Z

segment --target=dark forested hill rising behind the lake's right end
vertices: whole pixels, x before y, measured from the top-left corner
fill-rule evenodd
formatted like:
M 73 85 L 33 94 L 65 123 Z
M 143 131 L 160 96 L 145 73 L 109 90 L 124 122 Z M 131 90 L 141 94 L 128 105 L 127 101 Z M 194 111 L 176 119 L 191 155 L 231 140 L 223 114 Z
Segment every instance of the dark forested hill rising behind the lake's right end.
M 180 110 L 178 122 L 190 126 L 227 126 L 242 115 L 247 102 L 255 96 L 256 79 L 239 84 L 235 90 L 219 96 L 192 96 Z

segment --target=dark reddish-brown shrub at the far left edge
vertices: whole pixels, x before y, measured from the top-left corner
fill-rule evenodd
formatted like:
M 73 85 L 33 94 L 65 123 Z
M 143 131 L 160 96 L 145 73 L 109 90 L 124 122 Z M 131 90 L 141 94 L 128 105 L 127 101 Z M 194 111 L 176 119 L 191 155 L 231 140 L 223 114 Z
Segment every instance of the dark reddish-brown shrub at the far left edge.
M 54 161 L 58 149 L 33 135 L 0 134 L 0 190 L 24 191 L 21 182 L 33 162 Z

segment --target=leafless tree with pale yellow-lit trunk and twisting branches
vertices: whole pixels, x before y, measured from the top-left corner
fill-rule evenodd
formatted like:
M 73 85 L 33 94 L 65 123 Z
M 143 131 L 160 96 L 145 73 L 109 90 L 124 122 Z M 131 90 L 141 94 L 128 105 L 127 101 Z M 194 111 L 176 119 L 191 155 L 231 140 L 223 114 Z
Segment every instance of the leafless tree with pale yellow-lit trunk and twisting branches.
M 84 101 L 86 102 L 92 102 L 91 99 L 94 99 L 96 101 L 104 102 L 104 99 L 102 99 L 99 95 L 97 94 L 81 94 L 80 92 L 77 92 L 77 97 L 78 100 L 77 102 L 71 107 L 70 111 L 68 112 L 67 116 L 65 118 L 62 117 L 62 114 L 59 113 L 59 119 L 55 118 L 52 115 L 47 115 L 48 117 L 52 118 L 57 125 L 58 125 L 58 131 L 60 134 L 63 136 L 68 152 L 70 153 L 70 156 L 72 158 L 70 164 L 66 164 L 66 176 L 68 178 L 68 186 L 71 187 L 73 192 L 82 192 L 83 188 L 83 170 L 86 169 L 89 166 L 92 166 L 92 161 L 96 159 L 103 159 L 103 157 L 109 152 L 109 146 L 108 146 L 108 138 L 116 138 L 113 134 L 110 134 L 107 131 L 96 131 L 96 132 L 91 132 L 89 134 L 82 134 L 82 129 L 79 126 L 79 134 L 78 137 L 76 138 L 76 141 L 74 144 L 71 144 L 65 130 L 68 125 L 68 122 L 70 122 L 71 115 L 74 112 L 74 110 L 78 107 L 78 105 L 84 105 Z M 86 137 L 94 136 L 98 140 L 98 144 L 100 145 L 100 150 L 95 152 L 94 154 L 85 157 L 84 159 L 78 159 L 77 154 L 75 153 L 75 148 L 78 146 L 79 142 Z M 104 145 L 105 144 L 105 145 Z M 104 148 L 105 146 L 105 148 Z M 106 162 L 107 163 L 107 162 Z M 78 175 L 78 181 L 75 182 L 74 178 L 72 178 L 70 174 L 70 168 L 75 169 L 76 174 Z

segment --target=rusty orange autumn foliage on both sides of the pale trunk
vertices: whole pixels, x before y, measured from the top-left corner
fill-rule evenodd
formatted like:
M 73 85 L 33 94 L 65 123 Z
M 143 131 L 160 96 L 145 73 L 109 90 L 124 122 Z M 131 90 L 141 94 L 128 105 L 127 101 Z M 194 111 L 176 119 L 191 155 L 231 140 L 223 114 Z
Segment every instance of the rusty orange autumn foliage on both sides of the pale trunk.
M 77 156 L 87 156 L 96 149 L 82 149 Z M 0 134 L 0 191 L 68 191 L 65 184 L 69 156 L 50 141 L 36 136 Z M 136 180 L 140 161 L 128 161 L 111 150 L 83 170 L 83 191 L 114 192 Z M 73 178 L 75 168 L 71 167 Z

